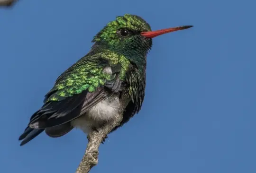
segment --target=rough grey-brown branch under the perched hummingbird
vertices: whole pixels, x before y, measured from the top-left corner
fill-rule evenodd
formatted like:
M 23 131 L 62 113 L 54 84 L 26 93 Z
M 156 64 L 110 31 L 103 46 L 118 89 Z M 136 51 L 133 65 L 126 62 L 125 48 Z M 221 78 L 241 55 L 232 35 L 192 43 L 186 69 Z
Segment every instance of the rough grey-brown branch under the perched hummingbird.
M 75 173 L 88 173 L 91 168 L 98 164 L 99 147 L 101 142 L 123 119 L 123 109 L 119 111 L 114 121 L 104 125 L 98 131 L 92 131 L 88 136 L 88 144 L 82 161 Z

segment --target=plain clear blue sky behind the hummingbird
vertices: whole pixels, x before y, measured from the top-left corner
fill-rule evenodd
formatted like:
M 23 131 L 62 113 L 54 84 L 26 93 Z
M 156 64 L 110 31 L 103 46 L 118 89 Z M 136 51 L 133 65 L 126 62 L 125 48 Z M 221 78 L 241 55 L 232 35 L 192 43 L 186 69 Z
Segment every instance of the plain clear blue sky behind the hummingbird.
M 109 135 L 91 173 L 255 173 L 255 2 L 231 0 L 20 0 L 0 9 L 1 173 L 73 173 L 80 130 L 18 136 L 55 79 L 116 16 L 153 30 L 194 25 L 153 40 L 141 112 Z

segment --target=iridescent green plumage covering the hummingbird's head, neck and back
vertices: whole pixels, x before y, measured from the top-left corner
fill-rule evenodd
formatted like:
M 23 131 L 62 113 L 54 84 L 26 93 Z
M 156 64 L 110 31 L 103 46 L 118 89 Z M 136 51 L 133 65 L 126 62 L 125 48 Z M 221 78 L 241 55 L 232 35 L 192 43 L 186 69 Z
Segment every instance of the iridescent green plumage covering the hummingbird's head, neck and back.
M 54 94 L 46 97 L 46 102 L 60 101 L 65 97 L 80 94 L 86 89 L 88 89 L 89 92 L 93 92 L 97 87 L 104 86 L 105 81 L 110 79 L 110 74 L 102 72 L 107 65 L 106 63 L 110 65 L 120 63 L 122 65 L 121 74 L 119 76 L 122 80 L 125 79 L 130 62 L 134 62 L 140 66 L 139 70 L 141 71 L 141 75 L 144 75 L 143 69 L 146 65 L 145 52 L 147 53 L 148 51 L 147 46 L 150 48 L 151 45 L 148 43 L 148 45 L 145 46 L 140 44 L 140 42 L 138 42 L 138 44 L 134 42 L 137 40 L 137 38 L 134 37 L 139 35 L 134 35 L 126 39 L 121 38 L 117 34 L 117 31 L 123 28 L 137 33 L 151 31 L 150 26 L 141 17 L 129 14 L 123 17 L 116 17 L 116 20 L 105 26 L 92 41 L 101 43 L 100 50 L 96 49 L 97 51 L 95 53 L 86 55 L 70 67 L 70 69 L 67 69 L 67 71 L 56 80 L 55 86 L 49 92 L 49 94 L 53 92 Z M 131 44 L 133 42 L 134 44 Z M 146 49 L 143 49 L 143 47 L 141 47 L 142 49 L 138 49 L 141 45 L 146 47 Z M 135 46 L 137 49 L 134 49 Z M 134 56 L 134 54 L 136 54 L 136 56 Z M 106 60 L 106 62 L 97 59 L 97 57 L 101 57 L 103 60 Z M 129 92 L 132 92 L 133 88 L 132 86 L 130 87 Z

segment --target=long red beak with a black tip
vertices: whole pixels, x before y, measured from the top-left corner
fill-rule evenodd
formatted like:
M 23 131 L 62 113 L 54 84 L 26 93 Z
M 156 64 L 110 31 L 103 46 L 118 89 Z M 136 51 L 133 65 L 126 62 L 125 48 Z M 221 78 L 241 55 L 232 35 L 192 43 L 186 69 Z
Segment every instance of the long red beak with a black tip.
M 183 30 L 183 29 L 188 29 L 190 27 L 193 27 L 192 25 L 188 25 L 188 26 L 177 26 L 177 27 L 172 27 L 172 28 L 168 28 L 168 29 L 161 29 L 161 30 L 157 30 L 157 31 L 148 31 L 148 32 L 141 32 L 141 35 L 144 35 L 147 38 L 154 38 L 158 35 L 163 35 L 166 33 L 171 33 L 174 31 L 179 31 L 179 30 Z

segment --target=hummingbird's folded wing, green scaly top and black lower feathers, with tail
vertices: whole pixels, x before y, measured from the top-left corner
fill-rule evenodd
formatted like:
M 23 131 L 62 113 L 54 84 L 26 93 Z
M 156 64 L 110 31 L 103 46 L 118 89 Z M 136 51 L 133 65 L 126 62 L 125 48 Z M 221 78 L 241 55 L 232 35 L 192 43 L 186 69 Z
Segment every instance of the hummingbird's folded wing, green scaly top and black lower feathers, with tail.
M 110 67 L 109 61 L 99 57 L 84 57 L 67 69 L 46 94 L 42 108 L 31 116 L 26 130 L 19 138 L 24 139 L 21 145 L 44 130 L 52 137 L 62 136 L 72 130 L 70 121 L 111 95 L 110 90 L 119 90 L 121 80 L 117 74 L 120 70 L 118 63 Z M 110 90 L 106 90 L 105 86 Z

